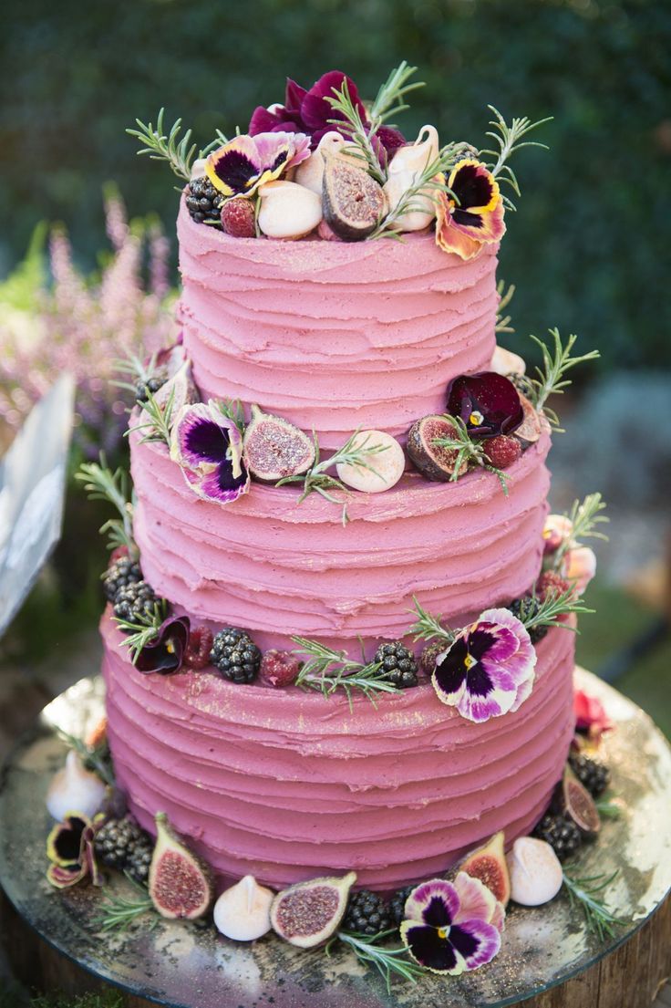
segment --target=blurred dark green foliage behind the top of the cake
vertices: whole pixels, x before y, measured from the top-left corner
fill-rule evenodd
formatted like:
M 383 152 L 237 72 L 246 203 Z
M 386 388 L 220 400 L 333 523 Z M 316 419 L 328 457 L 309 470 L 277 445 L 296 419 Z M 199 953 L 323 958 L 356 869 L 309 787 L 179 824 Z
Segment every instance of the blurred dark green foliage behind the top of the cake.
M 500 276 L 520 336 L 558 325 L 606 365 L 671 366 L 671 4 L 647 0 L 11 0 L 0 85 L 0 273 L 42 218 L 84 266 L 105 244 L 102 183 L 173 234 L 164 165 L 134 155 L 135 116 L 181 115 L 199 142 L 244 130 L 289 75 L 341 69 L 372 97 L 402 58 L 427 87 L 400 123 L 485 145 L 487 103 L 554 116 L 522 152 Z M 666 178 L 666 181 L 664 179 Z M 173 245 L 174 248 L 174 245 Z

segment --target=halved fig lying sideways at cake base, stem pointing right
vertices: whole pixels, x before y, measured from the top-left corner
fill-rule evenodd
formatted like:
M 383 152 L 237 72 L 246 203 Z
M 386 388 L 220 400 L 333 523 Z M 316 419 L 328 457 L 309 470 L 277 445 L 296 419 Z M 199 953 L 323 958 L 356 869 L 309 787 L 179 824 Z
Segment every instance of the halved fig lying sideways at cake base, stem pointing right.
M 275 896 L 270 907 L 273 930 L 299 949 L 313 949 L 334 934 L 345 916 L 357 873 L 344 878 L 298 882 Z

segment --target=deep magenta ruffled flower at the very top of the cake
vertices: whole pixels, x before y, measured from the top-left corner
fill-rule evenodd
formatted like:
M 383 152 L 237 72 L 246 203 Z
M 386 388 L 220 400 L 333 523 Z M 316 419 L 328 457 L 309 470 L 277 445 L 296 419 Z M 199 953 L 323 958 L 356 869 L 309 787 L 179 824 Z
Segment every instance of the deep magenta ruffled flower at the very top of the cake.
M 364 128 L 369 127 L 370 120 L 366 106 L 359 97 L 357 85 L 342 71 L 331 70 L 323 74 L 309 90 L 287 78 L 284 105 L 272 105 L 269 109 L 258 106 L 250 120 L 250 135 L 258 136 L 260 133 L 276 131 L 309 133 L 312 149 L 318 146 L 325 133 L 333 129 L 347 138 L 351 129 L 347 119 L 326 101 L 333 97 L 334 92 L 342 91 L 344 84 L 347 85 L 348 94 L 361 116 Z M 343 125 L 339 129 L 341 122 Z M 406 142 L 403 134 L 391 126 L 379 126 L 373 141 L 378 148 L 378 156 L 387 157 Z

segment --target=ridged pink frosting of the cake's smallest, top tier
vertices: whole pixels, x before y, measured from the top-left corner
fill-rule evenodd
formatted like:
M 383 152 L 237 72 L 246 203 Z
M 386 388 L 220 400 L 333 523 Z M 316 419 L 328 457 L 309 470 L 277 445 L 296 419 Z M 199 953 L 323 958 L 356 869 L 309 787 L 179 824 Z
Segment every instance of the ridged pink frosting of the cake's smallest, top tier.
M 229 238 L 177 220 L 184 345 L 204 398 L 279 413 L 323 448 L 357 427 L 404 438 L 495 347 L 496 246 L 471 262 L 405 241 Z

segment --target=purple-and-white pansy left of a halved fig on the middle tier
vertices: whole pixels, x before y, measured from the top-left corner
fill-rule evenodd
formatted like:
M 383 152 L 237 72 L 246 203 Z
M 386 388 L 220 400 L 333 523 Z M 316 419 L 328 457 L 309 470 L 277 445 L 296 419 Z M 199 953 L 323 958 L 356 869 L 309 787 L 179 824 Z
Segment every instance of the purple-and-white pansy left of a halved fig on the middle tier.
M 249 490 L 242 435 L 213 399 L 180 410 L 172 425 L 170 458 L 204 500 L 231 504 Z

